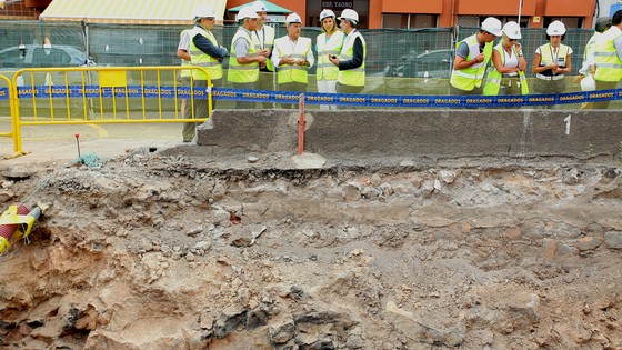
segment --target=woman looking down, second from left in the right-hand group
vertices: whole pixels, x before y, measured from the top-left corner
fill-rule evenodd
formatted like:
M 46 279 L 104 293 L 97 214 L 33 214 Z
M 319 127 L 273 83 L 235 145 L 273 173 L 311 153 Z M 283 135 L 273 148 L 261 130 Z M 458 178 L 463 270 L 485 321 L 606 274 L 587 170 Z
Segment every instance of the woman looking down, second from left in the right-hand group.
M 528 94 L 529 88 L 524 70 L 526 61 L 523 57 L 519 23 L 510 21 L 503 26 L 502 39 L 492 50 L 492 68 L 486 76 L 484 94 L 509 96 Z

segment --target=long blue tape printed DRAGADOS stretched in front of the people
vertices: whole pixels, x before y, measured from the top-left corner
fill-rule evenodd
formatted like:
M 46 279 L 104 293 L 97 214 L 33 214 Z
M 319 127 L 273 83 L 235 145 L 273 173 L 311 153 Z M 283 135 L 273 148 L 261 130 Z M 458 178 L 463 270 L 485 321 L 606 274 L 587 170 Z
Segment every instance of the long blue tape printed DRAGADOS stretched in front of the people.
M 174 98 L 174 87 L 128 86 L 127 88 L 100 88 L 99 86 L 86 86 L 82 92 L 81 86 L 69 86 L 70 98 L 112 98 L 126 97 L 126 89 L 130 98 Z M 68 91 L 64 87 L 36 86 L 18 88 L 19 98 L 67 98 Z M 214 100 L 221 101 L 247 101 L 247 102 L 274 102 L 298 104 L 300 92 L 268 91 L 268 90 L 235 90 L 225 88 L 213 88 Z M 189 87 L 177 87 L 178 98 L 189 98 Z M 195 98 L 205 98 L 207 91 L 194 89 Z M 0 88 L 0 100 L 9 99 L 8 88 Z M 544 104 L 569 104 L 583 102 L 599 102 L 622 100 L 622 89 L 599 90 L 589 92 L 569 92 L 560 94 L 526 94 L 526 96 L 388 96 L 388 94 L 343 94 L 343 93 L 319 93 L 304 92 L 304 103 L 308 104 L 337 104 L 359 107 L 384 107 L 384 108 L 505 108 Z

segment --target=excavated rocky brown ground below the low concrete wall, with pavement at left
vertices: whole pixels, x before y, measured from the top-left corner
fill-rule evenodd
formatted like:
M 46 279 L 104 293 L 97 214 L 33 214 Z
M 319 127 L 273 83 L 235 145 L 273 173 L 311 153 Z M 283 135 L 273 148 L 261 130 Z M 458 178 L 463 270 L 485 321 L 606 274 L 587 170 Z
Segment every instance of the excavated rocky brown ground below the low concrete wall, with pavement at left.
M 619 159 L 300 167 L 173 123 L 23 134 L 3 209 L 49 209 L 0 256 L 2 349 L 622 349 Z

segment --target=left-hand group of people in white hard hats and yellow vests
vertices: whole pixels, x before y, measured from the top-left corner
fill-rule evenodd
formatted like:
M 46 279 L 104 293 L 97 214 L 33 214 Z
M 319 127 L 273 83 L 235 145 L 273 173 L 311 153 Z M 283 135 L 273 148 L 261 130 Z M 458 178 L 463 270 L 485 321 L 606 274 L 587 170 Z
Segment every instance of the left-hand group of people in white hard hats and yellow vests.
M 365 84 L 367 44 L 357 30 L 359 14 L 345 9 L 338 18 L 331 10 L 320 13 L 322 33 L 317 38 L 313 48 L 310 38 L 301 37 L 302 19 L 298 13 L 285 18 L 287 34 L 274 38 L 274 29 L 264 26 L 267 8 L 262 1 L 254 1 L 243 7 L 238 13 L 240 24 L 231 47 L 220 46 L 211 32 L 215 22 L 215 12 L 208 6 L 195 9 L 194 28 L 181 33 L 178 57 L 182 64 L 202 67 L 207 70 L 214 87 L 222 86 L 222 60 L 229 56 L 227 80 L 234 89 L 273 91 L 307 91 L 308 71 L 317 64 L 317 83 L 319 92 L 358 93 Z M 339 26 L 337 21 L 340 21 Z M 340 30 L 341 29 L 341 30 Z M 317 62 L 315 56 L 317 52 Z M 265 72 L 265 74 L 261 74 Z M 274 87 L 273 74 L 277 74 Z M 182 71 L 182 84 L 207 87 L 207 74 L 197 69 Z M 264 108 L 272 103 L 264 102 Z M 237 101 L 235 108 L 250 108 L 253 102 Z M 291 104 L 284 103 L 288 108 Z M 215 108 L 215 101 L 213 103 Z M 331 109 L 334 106 L 322 106 Z M 208 101 L 194 99 L 192 103 L 182 101 L 183 117 L 207 118 Z M 194 137 L 195 123 L 184 124 L 182 136 L 184 142 Z

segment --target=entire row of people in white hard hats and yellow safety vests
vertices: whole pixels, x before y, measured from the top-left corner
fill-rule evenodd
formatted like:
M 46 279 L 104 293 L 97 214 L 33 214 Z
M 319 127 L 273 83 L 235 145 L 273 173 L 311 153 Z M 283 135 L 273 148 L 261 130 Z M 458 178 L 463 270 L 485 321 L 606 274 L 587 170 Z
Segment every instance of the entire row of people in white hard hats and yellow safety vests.
M 343 10 L 340 17 L 331 10 L 320 13 L 322 33 L 313 47 L 310 38 L 301 37 L 302 19 L 298 13 L 285 18 L 287 34 L 275 38 L 274 29 L 265 26 L 267 7 L 258 0 L 238 13 L 240 24 L 230 49 L 220 46 L 211 32 L 215 12 L 209 6 L 195 9 L 194 27 L 181 33 L 178 57 L 182 64 L 202 67 L 214 87 L 222 86 L 222 60 L 229 56 L 227 80 L 237 90 L 307 91 L 308 71 L 315 66 L 318 92 L 359 93 L 365 84 L 367 43 L 357 30 L 357 11 Z M 338 26 L 339 20 L 339 26 Z M 574 81 L 584 90 L 614 89 L 622 78 L 622 11 L 613 18 L 600 18 L 596 31 L 585 47 L 583 67 Z M 561 93 L 566 91 L 566 76 L 572 69 L 571 47 L 562 43 L 566 32 L 561 21 L 546 28 L 548 42 L 533 54 L 535 79 L 525 78 L 528 63 L 520 43 L 519 23 L 502 24 L 489 17 L 480 30 L 458 42 L 450 78 L 450 93 L 455 96 L 516 96 L 530 93 Z M 501 38 L 495 44 L 496 38 Z M 317 57 L 315 57 L 315 54 Z M 261 72 L 264 72 L 262 74 Z M 277 86 L 273 74 L 275 73 Z M 202 70 L 181 73 L 182 84 L 208 87 Z M 606 108 L 605 102 L 585 103 L 584 108 Z M 292 104 L 284 103 L 288 108 Z M 213 107 L 215 108 L 215 101 Z M 237 101 L 235 108 L 251 108 L 254 102 Z M 272 103 L 263 102 L 264 108 Z M 333 109 L 334 106 L 321 106 Z M 184 118 L 207 118 L 208 100 L 182 101 Z M 183 141 L 194 137 L 195 123 L 188 122 Z

